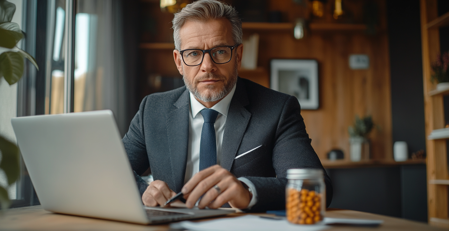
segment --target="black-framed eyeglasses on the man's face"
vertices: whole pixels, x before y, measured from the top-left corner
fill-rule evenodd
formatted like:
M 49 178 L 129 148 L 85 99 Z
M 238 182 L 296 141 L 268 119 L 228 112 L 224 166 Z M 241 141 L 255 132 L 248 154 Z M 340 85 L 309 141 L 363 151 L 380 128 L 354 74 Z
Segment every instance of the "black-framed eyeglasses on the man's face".
M 225 64 L 231 61 L 232 51 L 234 48 L 238 47 L 238 45 L 240 45 L 240 43 L 237 43 L 234 46 L 214 47 L 209 50 L 186 49 L 179 51 L 179 53 L 187 66 L 198 66 L 199 64 L 202 64 L 204 54 L 206 53 L 209 53 L 209 56 L 211 56 L 214 63 Z

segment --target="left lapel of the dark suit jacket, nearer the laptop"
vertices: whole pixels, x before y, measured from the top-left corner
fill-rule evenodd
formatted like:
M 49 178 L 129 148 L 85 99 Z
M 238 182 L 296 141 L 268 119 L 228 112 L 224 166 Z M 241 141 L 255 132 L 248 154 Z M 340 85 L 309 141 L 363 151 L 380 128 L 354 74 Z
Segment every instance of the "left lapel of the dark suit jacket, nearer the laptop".
M 184 185 L 189 147 L 189 91 L 185 90 L 173 106 L 175 107 L 167 116 L 167 137 L 172 168 L 172 190 L 180 192 Z

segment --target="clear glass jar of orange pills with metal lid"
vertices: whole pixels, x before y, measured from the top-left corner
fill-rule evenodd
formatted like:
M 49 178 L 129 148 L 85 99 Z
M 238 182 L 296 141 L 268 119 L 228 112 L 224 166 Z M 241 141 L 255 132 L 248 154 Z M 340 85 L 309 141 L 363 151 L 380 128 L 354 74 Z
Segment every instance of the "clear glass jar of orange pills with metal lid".
M 316 224 L 326 211 L 326 188 L 321 169 L 289 169 L 286 216 L 294 224 Z

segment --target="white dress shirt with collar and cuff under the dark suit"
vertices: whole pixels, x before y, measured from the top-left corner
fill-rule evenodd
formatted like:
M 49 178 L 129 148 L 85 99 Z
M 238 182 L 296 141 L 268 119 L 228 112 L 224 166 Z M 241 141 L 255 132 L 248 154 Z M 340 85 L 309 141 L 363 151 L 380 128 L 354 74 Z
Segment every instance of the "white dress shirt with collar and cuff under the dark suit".
M 223 143 L 223 134 L 225 133 L 226 118 L 228 116 L 229 105 L 235 92 L 235 85 L 231 92 L 215 104 L 211 109 L 218 111 L 218 116 L 214 124 L 216 146 L 217 146 L 217 164 L 221 161 L 221 145 Z M 199 171 L 199 146 L 201 141 L 201 131 L 204 119 L 200 111 L 204 109 L 204 105 L 198 102 L 192 93 L 190 93 L 190 107 L 189 107 L 189 148 L 187 152 L 187 165 L 185 168 L 184 184 L 190 180 Z M 244 177 L 239 177 L 238 180 L 245 183 L 252 193 L 252 198 L 248 208 L 251 208 L 257 202 L 257 192 L 254 184 Z

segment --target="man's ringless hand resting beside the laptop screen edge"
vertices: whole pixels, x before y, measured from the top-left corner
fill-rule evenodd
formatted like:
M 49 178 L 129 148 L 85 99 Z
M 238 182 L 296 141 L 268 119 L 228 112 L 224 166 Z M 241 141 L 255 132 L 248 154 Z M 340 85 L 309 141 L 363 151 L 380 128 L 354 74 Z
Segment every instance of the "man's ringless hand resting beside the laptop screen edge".
M 148 185 L 145 192 L 142 195 L 142 201 L 145 206 L 154 207 L 157 205 L 164 206 L 168 199 L 175 196 L 176 193 L 173 192 L 168 185 L 162 180 L 154 180 Z

